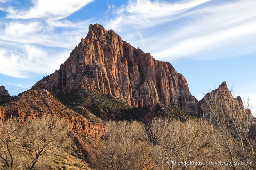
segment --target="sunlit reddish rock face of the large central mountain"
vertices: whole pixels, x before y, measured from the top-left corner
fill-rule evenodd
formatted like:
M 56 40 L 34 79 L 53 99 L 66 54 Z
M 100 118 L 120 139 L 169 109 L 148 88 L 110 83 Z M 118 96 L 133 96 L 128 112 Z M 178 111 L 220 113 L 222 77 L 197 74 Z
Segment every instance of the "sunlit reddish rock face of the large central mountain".
M 135 107 L 162 103 L 197 112 L 198 101 L 190 94 L 186 79 L 170 63 L 156 61 L 99 24 L 90 24 L 86 38 L 60 69 L 32 88 L 47 89 L 55 97 L 88 89 L 112 94 Z

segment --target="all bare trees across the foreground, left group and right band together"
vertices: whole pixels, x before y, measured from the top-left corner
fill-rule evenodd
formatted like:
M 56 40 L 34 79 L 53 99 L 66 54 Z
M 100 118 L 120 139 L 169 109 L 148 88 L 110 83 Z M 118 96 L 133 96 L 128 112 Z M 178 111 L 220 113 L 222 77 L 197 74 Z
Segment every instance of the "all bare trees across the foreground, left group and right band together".
M 248 100 L 249 101 L 249 100 Z M 249 108 L 249 102 L 246 104 Z M 218 90 L 201 101 L 201 115 L 180 121 L 157 117 L 108 121 L 108 132 L 92 142 L 89 161 L 100 170 L 256 169 L 255 120 L 248 109 Z M 12 117 L 0 123 L 0 168 L 27 169 L 63 151 L 64 119 Z M 240 165 L 241 164 L 241 165 Z

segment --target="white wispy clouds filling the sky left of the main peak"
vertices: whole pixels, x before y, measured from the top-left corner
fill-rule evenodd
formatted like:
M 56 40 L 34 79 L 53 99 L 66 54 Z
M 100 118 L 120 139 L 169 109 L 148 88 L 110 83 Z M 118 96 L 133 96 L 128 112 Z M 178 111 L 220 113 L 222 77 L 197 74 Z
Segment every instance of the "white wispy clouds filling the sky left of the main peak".
M 62 18 L 92 1 L 34 0 L 27 11 L 4 8 L 7 15 L 0 24 L 0 74 L 30 78 L 59 69 L 90 24 L 90 19 L 71 22 Z

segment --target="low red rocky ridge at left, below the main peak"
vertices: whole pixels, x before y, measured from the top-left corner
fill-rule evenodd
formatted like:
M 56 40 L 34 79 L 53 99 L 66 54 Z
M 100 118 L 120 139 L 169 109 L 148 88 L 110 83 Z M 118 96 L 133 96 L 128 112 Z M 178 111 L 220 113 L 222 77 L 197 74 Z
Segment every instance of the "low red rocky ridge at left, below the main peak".
M 0 106 L 0 121 L 14 116 L 25 121 L 43 115 L 66 119 L 70 130 L 75 133 L 85 133 L 88 136 L 96 137 L 107 131 L 105 123 L 88 121 L 77 112 L 62 105 L 45 89 L 20 93 L 8 105 Z

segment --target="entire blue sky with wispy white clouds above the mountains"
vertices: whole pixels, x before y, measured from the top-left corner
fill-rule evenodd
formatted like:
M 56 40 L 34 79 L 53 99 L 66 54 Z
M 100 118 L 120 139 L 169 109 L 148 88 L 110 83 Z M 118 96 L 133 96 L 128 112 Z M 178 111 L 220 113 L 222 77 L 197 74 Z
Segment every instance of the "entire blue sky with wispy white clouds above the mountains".
M 226 81 L 256 107 L 255 9 L 255 0 L 0 0 L 0 85 L 30 89 L 98 23 L 172 63 L 198 100 Z

